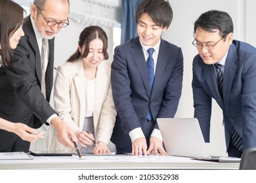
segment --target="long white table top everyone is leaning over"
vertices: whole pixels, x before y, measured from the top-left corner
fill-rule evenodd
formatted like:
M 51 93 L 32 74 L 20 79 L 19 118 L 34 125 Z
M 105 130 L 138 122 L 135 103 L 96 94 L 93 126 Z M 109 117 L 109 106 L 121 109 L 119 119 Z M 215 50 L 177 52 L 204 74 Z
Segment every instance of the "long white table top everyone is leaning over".
M 177 156 L 32 156 L 0 160 L 0 169 L 239 169 L 240 163 L 200 161 Z

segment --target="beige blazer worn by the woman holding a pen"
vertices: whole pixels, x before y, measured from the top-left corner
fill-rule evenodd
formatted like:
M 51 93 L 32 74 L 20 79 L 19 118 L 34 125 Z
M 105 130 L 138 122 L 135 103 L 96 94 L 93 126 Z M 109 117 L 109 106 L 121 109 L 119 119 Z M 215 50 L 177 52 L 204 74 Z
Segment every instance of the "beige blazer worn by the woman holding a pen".
M 110 84 L 111 62 L 103 60 L 98 65 L 95 78 L 95 107 L 93 122 L 95 141 L 108 142 L 116 121 L 116 108 L 112 97 Z M 73 131 L 83 129 L 85 118 L 85 84 L 83 63 L 79 59 L 66 62 L 57 69 L 54 82 L 54 107 L 60 118 L 72 127 Z M 65 150 L 72 152 L 58 142 L 58 136 L 53 126 L 49 126 L 45 135 L 45 150 Z

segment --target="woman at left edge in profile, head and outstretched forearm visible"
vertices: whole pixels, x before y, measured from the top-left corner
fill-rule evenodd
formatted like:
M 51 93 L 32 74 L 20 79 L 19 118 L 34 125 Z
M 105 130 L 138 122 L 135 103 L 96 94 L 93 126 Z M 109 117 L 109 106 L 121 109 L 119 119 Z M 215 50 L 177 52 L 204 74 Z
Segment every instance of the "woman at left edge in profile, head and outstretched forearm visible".
M 0 67 L 8 67 L 12 61 L 12 50 L 16 48 L 20 37 L 24 36 L 22 30 L 24 9 L 10 0 L 0 1 Z M 26 124 L 9 122 L 0 118 L 0 133 L 10 131 L 16 133 L 24 141 L 43 139 L 43 133 Z

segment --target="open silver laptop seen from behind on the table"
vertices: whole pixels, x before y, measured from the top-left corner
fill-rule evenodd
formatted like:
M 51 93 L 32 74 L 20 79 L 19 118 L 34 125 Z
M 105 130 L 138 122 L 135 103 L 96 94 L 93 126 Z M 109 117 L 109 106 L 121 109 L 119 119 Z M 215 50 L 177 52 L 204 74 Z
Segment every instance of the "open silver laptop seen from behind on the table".
M 168 155 L 209 157 L 196 118 L 157 118 L 156 121 Z

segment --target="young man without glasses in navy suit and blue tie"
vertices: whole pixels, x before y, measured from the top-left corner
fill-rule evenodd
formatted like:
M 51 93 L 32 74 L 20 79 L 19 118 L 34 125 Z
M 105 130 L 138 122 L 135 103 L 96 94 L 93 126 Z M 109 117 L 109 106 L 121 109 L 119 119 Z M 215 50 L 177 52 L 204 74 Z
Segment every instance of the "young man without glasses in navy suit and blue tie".
M 117 152 L 167 154 L 156 118 L 175 116 L 183 76 L 181 48 L 161 39 L 172 19 L 168 1 L 142 1 L 136 10 L 138 37 L 115 49 L 111 80 L 117 117 L 111 141 Z M 148 76 L 148 48 L 154 48 L 153 77 Z

